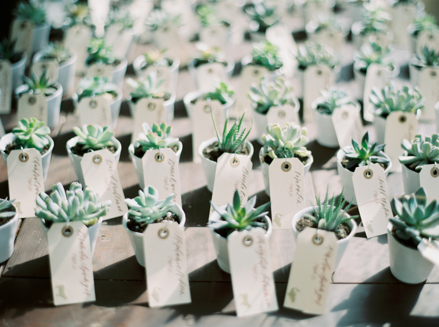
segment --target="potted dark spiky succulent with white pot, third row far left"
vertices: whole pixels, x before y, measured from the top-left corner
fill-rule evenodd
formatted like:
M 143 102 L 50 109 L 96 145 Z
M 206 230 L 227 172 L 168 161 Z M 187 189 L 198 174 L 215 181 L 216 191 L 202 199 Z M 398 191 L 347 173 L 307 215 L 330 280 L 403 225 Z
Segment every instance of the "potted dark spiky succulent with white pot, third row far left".
M 17 87 L 15 93 L 17 99 L 24 94 L 43 94 L 47 102 L 47 126 L 54 129 L 60 121 L 62 86 L 58 82 L 50 83 L 46 75 L 46 71 L 41 74 L 40 78 L 35 74 L 32 74 L 31 78 L 23 75 L 24 84 Z

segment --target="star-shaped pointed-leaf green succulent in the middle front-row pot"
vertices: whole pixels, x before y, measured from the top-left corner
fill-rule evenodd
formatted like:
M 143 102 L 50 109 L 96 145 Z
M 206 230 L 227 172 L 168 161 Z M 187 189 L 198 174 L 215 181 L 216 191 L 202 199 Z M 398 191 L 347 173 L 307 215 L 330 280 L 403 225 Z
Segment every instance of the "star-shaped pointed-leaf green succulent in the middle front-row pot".
M 263 228 L 267 226 L 263 218 L 268 213 L 266 210 L 270 202 L 255 208 L 256 196 L 249 199 L 245 205 L 241 205 L 239 191 L 236 190 L 233 195 L 233 204 L 229 202 L 225 208 L 221 208 L 213 202 L 211 202 L 211 204 L 212 208 L 218 212 L 220 216 L 218 219 L 212 219 L 208 226 L 216 231 L 228 230 L 227 236 L 235 230 L 251 230 L 256 227 Z

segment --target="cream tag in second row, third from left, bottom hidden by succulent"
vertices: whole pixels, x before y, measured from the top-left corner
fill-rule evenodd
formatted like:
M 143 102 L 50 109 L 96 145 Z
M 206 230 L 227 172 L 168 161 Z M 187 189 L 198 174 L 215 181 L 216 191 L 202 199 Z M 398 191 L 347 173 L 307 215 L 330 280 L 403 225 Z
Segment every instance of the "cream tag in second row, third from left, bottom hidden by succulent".
M 148 150 L 142 158 L 144 185 L 152 185 L 159 192 L 159 200 L 174 193 L 174 201 L 181 206 L 179 161 L 170 148 Z

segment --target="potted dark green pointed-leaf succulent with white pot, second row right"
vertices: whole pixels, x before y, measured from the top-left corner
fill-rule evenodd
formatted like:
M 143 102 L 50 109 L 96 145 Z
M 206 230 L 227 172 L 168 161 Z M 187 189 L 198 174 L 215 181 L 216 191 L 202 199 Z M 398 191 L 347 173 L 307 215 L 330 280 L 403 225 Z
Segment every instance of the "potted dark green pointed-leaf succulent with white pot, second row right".
M 343 196 L 351 204 L 357 205 L 354 183 L 352 182 L 355 168 L 378 163 L 384 170 L 384 176 L 389 173 L 392 161 L 384 153 L 384 146 L 385 144 L 377 142 L 369 143 L 369 133 L 366 132 L 360 143 L 352 140 L 352 145 L 345 146 L 337 152 L 337 170 L 344 188 Z

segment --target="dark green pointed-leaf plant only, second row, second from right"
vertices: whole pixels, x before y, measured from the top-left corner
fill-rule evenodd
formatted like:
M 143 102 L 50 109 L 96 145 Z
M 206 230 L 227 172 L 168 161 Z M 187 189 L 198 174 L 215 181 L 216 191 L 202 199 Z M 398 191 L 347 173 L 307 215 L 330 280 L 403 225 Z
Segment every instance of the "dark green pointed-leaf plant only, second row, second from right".
M 363 135 L 361 142 L 357 143 L 352 140 L 352 146 L 343 149 L 344 156 L 349 160 L 345 168 L 355 171 L 356 167 L 368 165 L 369 163 L 381 163 L 388 165 L 390 160 L 380 155 L 386 144 L 369 143 L 369 133 Z

